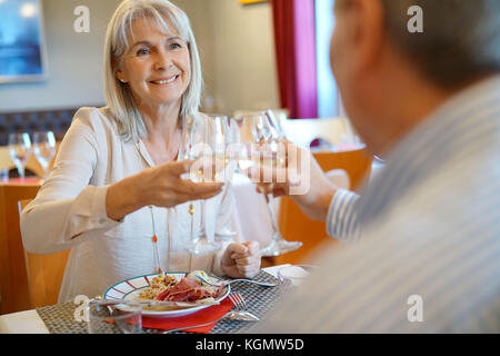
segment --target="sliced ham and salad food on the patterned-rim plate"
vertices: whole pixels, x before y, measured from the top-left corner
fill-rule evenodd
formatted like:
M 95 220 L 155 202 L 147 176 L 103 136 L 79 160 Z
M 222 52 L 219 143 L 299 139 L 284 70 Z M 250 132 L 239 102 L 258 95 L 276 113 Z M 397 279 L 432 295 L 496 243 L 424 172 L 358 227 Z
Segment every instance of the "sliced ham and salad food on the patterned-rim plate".
M 178 280 L 173 276 L 166 278 L 154 277 L 151 285 L 139 294 L 140 299 L 163 300 L 163 301 L 188 301 L 199 304 L 213 303 L 221 297 L 224 286 L 210 286 L 200 278 L 208 279 L 209 276 L 203 270 L 196 270 Z

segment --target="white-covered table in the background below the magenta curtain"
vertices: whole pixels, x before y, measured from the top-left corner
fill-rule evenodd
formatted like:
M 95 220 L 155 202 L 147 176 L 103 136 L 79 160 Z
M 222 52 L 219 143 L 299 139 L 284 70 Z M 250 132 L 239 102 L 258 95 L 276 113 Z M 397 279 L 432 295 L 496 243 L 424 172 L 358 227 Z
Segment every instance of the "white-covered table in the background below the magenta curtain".
M 322 139 L 332 146 L 350 144 L 356 137 L 346 118 L 293 119 L 283 120 L 282 125 L 287 139 L 301 147 L 309 147 L 316 139 Z

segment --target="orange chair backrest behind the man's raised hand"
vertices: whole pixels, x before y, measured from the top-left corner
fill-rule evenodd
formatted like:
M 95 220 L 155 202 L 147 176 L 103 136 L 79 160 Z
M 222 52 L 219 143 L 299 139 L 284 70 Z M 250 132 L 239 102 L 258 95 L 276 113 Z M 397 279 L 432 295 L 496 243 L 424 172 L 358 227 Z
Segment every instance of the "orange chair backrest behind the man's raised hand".
M 340 152 L 313 154 L 321 169 L 326 172 L 342 169 L 349 176 L 350 189 L 356 190 L 371 172 L 371 156 L 366 147 Z M 273 263 L 308 264 L 313 261 L 314 251 L 324 245 L 341 246 L 339 240 L 328 236 L 327 224 L 309 219 L 299 206 L 289 197 L 282 197 L 278 214 L 278 224 L 282 236 L 290 241 L 302 241 L 296 251 L 273 258 Z M 321 246 L 321 247 L 320 247 Z

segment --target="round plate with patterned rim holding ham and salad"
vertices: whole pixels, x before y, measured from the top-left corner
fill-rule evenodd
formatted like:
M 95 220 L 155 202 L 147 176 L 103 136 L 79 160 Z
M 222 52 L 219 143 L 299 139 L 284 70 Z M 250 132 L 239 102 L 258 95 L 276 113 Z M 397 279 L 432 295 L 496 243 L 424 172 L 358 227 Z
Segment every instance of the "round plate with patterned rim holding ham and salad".
M 199 278 L 201 277 L 201 278 Z M 203 281 L 207 280 L 212 286 Z M 140 301 L 142 315 L 168 318 L 189 315 L 217 305 L 228 297 L 231 286 L 203 270 L 151 274 L 122 280 L 109 287 L 104 299 Z

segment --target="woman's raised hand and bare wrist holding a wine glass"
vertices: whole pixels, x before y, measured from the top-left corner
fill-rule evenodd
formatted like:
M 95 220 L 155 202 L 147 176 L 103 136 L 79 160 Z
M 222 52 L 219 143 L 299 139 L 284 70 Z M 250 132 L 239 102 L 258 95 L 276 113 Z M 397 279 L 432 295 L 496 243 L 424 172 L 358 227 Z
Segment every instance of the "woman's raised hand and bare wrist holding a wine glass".
M 193 162 L 184 160 L 151 167 L 111 185 L 106 197 L 108 217 L 120 220 L 144 206 L 171 208 L 220 194 L 222 182 L 197 184 L 181 178 Z

